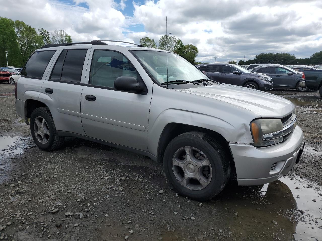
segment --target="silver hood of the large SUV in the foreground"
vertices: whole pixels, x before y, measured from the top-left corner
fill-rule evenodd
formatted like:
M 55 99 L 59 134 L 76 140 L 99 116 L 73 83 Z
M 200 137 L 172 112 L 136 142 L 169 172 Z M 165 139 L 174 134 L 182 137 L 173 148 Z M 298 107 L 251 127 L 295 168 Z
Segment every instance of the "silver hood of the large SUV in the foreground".
M 177 91 L 184 91 L 239 106 L 263 118 L 282 118 L 295 109 L 293 103 L 275 94 L 236 85 L 221 84 Z

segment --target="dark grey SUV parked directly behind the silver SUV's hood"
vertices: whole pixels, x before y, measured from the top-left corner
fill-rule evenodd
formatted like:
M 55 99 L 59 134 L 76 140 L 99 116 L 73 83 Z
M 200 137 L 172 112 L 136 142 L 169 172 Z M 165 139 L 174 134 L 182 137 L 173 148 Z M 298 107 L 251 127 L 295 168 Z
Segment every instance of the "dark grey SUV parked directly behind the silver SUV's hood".
M 247 69 L 234 64 L 199 64 L 198 69 L 210 79 L 231 85 L 239 85 L 256 90 L 273 89 L 270 76 L 260 73 L 251 73 Z

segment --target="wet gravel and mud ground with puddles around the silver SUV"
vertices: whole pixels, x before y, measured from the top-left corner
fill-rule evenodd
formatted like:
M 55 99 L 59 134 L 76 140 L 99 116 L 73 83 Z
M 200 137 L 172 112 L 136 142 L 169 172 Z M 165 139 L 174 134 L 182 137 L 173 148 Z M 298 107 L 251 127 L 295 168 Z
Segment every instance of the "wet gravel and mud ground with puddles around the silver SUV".
M 14 97 L 0 96 L 0 239 L 322 240 L 322 99 L 271 93 L 296 104 L 306 137 L 299 164 L 276 182 L 231 183 L 203 203 L 176 195 L 145 156 L 78 138 L 41 151 Z

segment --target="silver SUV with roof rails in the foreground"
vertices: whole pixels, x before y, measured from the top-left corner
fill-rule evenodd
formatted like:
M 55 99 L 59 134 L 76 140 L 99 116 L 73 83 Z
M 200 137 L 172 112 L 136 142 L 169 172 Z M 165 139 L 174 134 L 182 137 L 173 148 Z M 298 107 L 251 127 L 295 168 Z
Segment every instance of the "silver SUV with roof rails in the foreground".
M 230 177 L 275 181 L 304 147 L 290 101 L 217 83 L 159 49 L 46 45 L 22 69 L 15 97 L 41 149 L 75 136 L 131 150 L 163 162 L 175 189 L 195 200 L 212 198 Z

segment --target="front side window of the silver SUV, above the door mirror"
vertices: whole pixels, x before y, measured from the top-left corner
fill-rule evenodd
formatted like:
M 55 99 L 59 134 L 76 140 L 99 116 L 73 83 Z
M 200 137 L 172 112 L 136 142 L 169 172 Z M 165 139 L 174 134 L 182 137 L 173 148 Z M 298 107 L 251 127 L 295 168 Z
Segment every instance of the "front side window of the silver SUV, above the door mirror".
M 163 70 L 160 69 L 160 71 Z M 119 76 L 137 78 L 137 71 L 122 54 L 108 50 L 95 50 L 90 66 L 89 84 L 114 88 L 114 81 Z

